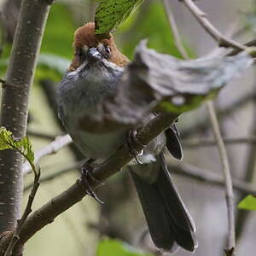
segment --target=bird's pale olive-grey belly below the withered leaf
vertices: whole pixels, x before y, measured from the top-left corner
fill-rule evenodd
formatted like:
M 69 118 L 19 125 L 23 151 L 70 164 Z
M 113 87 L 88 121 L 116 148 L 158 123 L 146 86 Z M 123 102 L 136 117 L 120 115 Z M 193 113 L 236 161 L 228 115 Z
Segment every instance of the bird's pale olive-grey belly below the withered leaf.
M 93 159 L 107 159 L 125 143 L 127 131 L 113 131 L 108 133 L 91 133 L 87 131 L 70 131 L 73 142 L 86 157 Z

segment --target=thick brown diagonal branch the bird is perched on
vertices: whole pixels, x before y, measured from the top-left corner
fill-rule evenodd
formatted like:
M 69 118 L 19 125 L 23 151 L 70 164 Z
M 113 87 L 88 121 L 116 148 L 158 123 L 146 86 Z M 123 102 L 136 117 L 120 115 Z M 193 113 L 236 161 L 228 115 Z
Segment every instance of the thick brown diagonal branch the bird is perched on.
M 172 125 L 175 119 L 177 119 L 177 115 L 171 113 L 156 116 L 142 130 L 138 131 L 137 139 L 143 145 L 147 145 L 154 137 L 157 137 L 162 131 Z M 143 146 L 137 143 L 132 146 L 138 151 L 143 150 Z M 119 172 L 131 159 L 130 148 L 125 144 L 108 160 L 104 161 L 100 166 L 96 166 L 93 176 L 103 182 L 114 173 Z M 92 188 L 96 188 L 96 185 L 98 183 L 90 184 Z M 70 188 L 55 196 L 43 207 L 40 207 L 38 211 L 32 213 L 20 230 L 20 240 L 17 242 L 16 249 L 19 249 L 20 246 L 22 247 L 38 230 L 51 223 L 61 212 L 66 211 L 69 207 L 81 201 L 84 195 L 86 195 L 85 190 L 86 186 L 78 180 Z

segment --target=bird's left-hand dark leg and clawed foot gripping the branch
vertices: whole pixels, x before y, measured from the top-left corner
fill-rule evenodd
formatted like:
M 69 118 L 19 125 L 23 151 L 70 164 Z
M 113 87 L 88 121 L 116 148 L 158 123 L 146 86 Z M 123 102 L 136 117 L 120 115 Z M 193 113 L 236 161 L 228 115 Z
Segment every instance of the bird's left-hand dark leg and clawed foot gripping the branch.
M 84 183 L 84 186 L 86 187 L 86 193 L 88 195 L 90 195 L 91 197 L 93 197 L 96 201 L 98 201 L 99 203 L 104 203 L 103 201 L 101 201 L 96 193 L 94 192 L 94 190 L 91 188 L 90 186 L 90 182 L 91 180 L 93 182 L 96 183 L 100 183 L 101 185 L 103 184 L 102 182 L 100 182 L 99 180 L 96 179 L 96 177 L 94 177 L 92 175 L 92 171 L 93 171 L 93 167 L 91 166 L 91 164 L 94 162 L 95 160 L 90 158 L 89 160 L 86 160 L 83 164 L 83 166 L 81 167 L 81 182 Z

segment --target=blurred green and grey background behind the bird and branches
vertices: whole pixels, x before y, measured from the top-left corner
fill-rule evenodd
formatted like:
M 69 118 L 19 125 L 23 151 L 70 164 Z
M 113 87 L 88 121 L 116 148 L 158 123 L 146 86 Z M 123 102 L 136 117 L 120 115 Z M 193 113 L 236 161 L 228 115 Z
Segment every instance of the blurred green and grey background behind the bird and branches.
M 196 2 L 209 20 L 226 35 L 247 42 L 255 38 L 255 0 L 201 0 Z M 183 44 L 191 57 L 216 55 L 216 44 L 194 17 L 178 1 L 166 1 L 177 21 Z M 15 34 L 20 0 L 0 0 L 0 75 L 4 78 L 9 53 Z M 73 57 L 73 33 L 84 22 L 94 20 L 96 1 L 55 1 L 52 5 L 30 99 L 27 135 L 34 150 L 43 148 L 65 134 L 57 119 L 55 90 Z M 181 57 L 175 47 L 172 30 L 161 0 L 145 0 L 125 23 L 114 33 L 119 48 L 131 60 L 140 40 L 148 38 L 148 46 L 162 53 Z M 222 133 L 227 138 L 256 136 L 256 80 L 255 70 L 230 83 L 221 90 L 216 108 Z M 224 254 L 227 237 L 227 214 L 222 184 L 222 170 L 216 145 L 212 139 L 210 122 L 205 106 L 183 114 L 177 127 L 181 133 L 184 158 L 177 163 L 169 157 L 172 177 L 189 208 L 197 226 L 199 247 L 196 256 Z M 254 142 L 254 143 L 253 143 Z M 236 203 L 252 191 L 255 180 L 256 144 L 229 143 L 227 150 L 232 176 L 236 183 Z M 42 206 L 53 196 L 66 189 L 79 177 L 83 156 L 71 144 L 57 154 L 40 161 L 41 183 L 33 209 Z M 58 173 L 58 175 L 56 175 Z M 26 176 L 25 201 L 32 182 Z M 243 185 L 243 187 L 242 187 Z M 256 193 L 256 184 L 255 193 Z M 243 188 L 243 189 L 242 189 Z M 26 245 L 26 255 L 86 255 L 96 254 L 96 247 L 104 237 L 126 241 L 154 255 L 154 248 L 143 218 L 143 212 L 130 177 L 120 172 L 96 191 L 105 201 L 103 205 L 86 196 L 79 204 L 61 214 Z M 237 254 L 252 255 L 256 236 L 254 212 L 236 212 Z M 46 246 L 47 245 L 47 246 Z M 177 256 L 189 255 L 180 249 Z

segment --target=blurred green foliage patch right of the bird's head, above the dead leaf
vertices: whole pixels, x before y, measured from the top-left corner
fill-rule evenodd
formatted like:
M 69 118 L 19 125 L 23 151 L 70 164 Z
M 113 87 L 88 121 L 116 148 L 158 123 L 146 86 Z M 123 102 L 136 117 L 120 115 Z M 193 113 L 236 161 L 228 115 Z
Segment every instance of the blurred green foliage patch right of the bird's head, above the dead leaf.
M 172 35 L 169 21 L 163 4 L 156 1 L 145 2 L 143 7 L 137 9 L 135 15 L 131 15 L 122 26 L 119 27 L 117 34 L 120 37 L 122 52 L 130 59 L 137 44 L 148 38 L 148 48 L 156 49 L 161 53 L 177 56 L 181 58 Z M 127 27 L 130 24 L 130 28 Z M 189 55 L 191 50 L 189 50 Z

